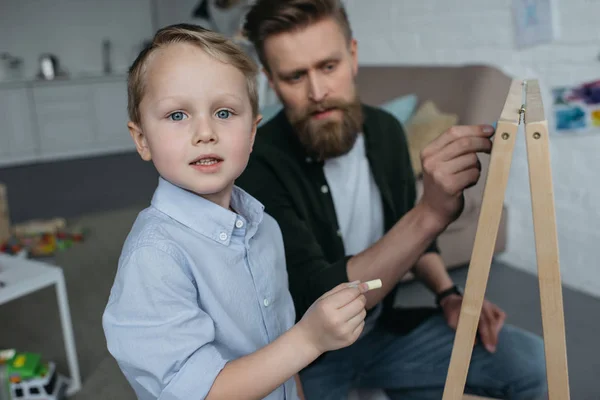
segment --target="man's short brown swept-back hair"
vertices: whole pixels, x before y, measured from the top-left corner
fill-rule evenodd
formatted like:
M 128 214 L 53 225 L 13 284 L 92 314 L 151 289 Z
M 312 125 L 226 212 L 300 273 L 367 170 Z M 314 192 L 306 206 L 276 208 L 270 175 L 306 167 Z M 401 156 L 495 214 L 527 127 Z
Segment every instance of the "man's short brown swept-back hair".
M 246 15 L 243 30 L 268 70 L 264 42 L 269 36 L 302 29 L 327 18 L 339 24 L 350 43 L 352 30 L 340 0 L 257 0 Z

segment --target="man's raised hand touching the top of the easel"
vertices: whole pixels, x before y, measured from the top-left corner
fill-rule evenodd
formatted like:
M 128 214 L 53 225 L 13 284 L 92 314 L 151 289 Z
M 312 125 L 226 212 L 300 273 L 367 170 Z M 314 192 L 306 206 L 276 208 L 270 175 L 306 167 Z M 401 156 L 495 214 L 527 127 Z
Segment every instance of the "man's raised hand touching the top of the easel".
M 421 152 L 421 204 L 443 227 L 462 212 L 463 191 L 475 185 L 481 173 L 477 153 L 491 152 L 493 133 L 494 128 L 490 125 L 454 126 Z

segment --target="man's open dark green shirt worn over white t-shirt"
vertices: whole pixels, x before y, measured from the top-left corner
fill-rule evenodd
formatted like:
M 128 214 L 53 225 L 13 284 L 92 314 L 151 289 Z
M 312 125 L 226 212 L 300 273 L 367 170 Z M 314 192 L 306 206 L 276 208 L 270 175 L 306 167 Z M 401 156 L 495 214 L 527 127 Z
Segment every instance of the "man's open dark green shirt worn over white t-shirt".
M 363 105 L 363 115 L 366 155 L 381 193 L 387 232 L 414 207 L 415 178 L 398 120 L 367 105 Z M 262 202 L 279 223 L 299 320 L 323 293 L 348 282 L 346 264 L 351 256 L 345 255 L 338 234 L 331 192 L 323 190 L 327 185 L 323 163 L 307 154 L 281 111 L 259 128 L 248 166 L 236 184 Z M 428 251 L 437 251 L 435 243 Z M 394 295 L 392 291 L 384 299 L 382 319 L 386 314 L 398 317 L 398 311 L 392 311 Z M 421 315 L 415 310 L 406 312 Z

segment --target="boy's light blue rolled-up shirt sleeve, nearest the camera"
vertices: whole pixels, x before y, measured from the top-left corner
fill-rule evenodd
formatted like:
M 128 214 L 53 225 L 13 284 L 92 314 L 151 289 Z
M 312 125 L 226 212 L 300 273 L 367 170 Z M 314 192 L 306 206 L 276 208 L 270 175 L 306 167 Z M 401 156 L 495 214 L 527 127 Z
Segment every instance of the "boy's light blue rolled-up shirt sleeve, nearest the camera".
M 211 317 L 177 257 L 135 249 L 119 265 L 103 315 L 110 353 L 140 399 L 203 399 L 226 360 Z

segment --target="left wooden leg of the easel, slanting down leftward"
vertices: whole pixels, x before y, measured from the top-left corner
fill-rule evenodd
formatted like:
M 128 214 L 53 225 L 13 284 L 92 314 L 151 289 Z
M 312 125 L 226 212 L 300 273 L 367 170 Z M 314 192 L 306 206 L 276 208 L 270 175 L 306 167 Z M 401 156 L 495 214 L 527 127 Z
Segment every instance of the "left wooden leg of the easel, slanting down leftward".
M 456 337 L 450 357 L 443 400 L 463 399 L 473 343 L 479 326 L 481 307 L 485 297 L 502 215 L 502 205 L 519 124 L 518 110 L 522 104 L 521 96 L 521 82 L 515 80 L 510 87 L 502 113 L 502 116 L 510 115 L 512 120 L 502 119 L 501 117 L 494 137 L 487 182 L 483 193 L 483 202 Z

